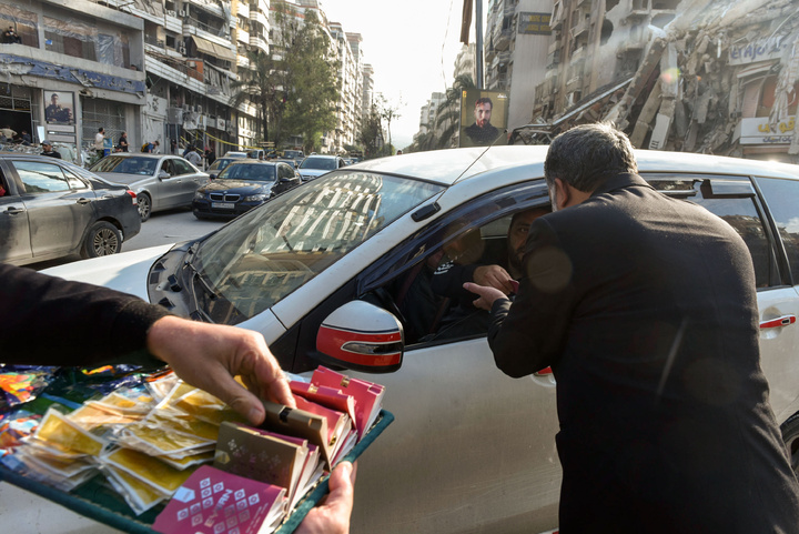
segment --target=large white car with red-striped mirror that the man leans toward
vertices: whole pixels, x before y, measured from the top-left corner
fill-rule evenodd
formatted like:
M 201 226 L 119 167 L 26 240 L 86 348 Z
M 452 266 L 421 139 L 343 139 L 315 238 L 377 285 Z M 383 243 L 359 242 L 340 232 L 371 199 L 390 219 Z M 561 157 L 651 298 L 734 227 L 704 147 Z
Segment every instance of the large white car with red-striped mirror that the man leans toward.
M 421 313 L 431 311 L 425 273 L 445 248 L 468 238 L 485 254 L 502 251 L 514 213 L 548 205 L 546 150 L 370 160 L 205 238 L 48 272 L 261 332 L 286 371 L 323 363 L 384 384 L 384 406 L 396 420 L 358 461 L 353 533 L 550 531 L 562 477 L 552 376 L 509 379 L 496 369 L 484 330 L 453 335 L 438 313 Z M 749 246 L 761 366 L 797 466 L 799 167 L 655 151 L 637 158 L 656 189 L 717 213 Z M 372 332 L 364 310 L 402 331 L 402 341 L 380 343 L 387 333 Z M 375 372 L 387 373 L 363 374 Z

